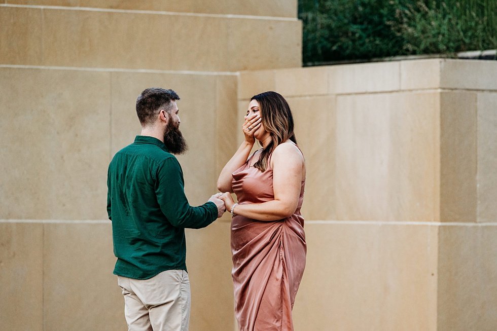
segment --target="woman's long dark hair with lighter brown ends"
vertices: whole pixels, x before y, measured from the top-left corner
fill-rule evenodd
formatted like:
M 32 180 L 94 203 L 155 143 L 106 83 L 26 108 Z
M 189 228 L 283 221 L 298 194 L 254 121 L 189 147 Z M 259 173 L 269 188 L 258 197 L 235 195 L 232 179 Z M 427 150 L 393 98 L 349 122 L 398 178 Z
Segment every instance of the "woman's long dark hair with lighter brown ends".
M 269 155 L 277 145 L 288 139 L 297 143 L 293 132 L 292 112 L 287 100 L 273 91 L 254 95 L 250 100 L 259 102 L 262 125 L 271 137 L 271 141 L 262 150 L 259 161 L 254 164 L 257 169 L 266 171 Z

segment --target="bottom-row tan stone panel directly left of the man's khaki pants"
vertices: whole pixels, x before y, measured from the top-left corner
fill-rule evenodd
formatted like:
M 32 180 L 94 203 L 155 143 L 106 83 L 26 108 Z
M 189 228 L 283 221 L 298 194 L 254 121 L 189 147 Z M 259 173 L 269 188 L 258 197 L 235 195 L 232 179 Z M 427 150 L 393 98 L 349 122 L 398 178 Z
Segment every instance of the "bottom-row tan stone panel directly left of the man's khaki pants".
M 111 224 L 45 224 L 44 230 L 45 329 L 125 328 Z

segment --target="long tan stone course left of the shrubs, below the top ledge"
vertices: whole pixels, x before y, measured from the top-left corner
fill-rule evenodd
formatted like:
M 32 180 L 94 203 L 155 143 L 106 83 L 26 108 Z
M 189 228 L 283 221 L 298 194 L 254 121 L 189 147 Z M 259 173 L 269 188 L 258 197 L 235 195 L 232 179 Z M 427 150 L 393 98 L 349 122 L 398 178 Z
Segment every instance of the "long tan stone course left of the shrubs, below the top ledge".
M 197 71 L 301 64 L 297 19 L 55 7 L 44 8 L 42 20 L 37 8 L 2 12 L 5 22 L 16 20 L 2 30 L 12 45 L 2 47 L 8 64 Z

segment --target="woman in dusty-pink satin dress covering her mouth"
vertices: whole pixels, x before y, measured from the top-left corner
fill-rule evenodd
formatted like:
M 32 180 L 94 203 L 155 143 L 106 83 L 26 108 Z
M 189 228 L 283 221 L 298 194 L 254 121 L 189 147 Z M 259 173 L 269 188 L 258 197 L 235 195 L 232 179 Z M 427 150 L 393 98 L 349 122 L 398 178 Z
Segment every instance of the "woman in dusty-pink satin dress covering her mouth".
M 245 140 L 221 171 L 220 197 L 232 214 L 231 251 L 239 331 L 293 330 L 292 308 L 305 267 L 305 162 L 287 101 L 251 98 Z M 251 157 L 255 140 L 262 145 Z

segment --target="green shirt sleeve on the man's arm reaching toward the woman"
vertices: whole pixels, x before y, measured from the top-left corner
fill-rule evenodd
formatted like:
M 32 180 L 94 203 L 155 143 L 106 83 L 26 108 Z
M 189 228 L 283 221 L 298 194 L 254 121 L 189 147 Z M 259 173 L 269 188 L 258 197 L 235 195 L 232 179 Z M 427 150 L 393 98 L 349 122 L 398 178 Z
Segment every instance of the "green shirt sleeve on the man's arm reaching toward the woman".
M 190 206 L 185 196 L 183 171 L 176 158 L 162 161 L 155 177 L 157 201 L 174 227 L 200 229 L 218 218 L 218 208 L 214 202 L 206 202 L 198 207 Z

